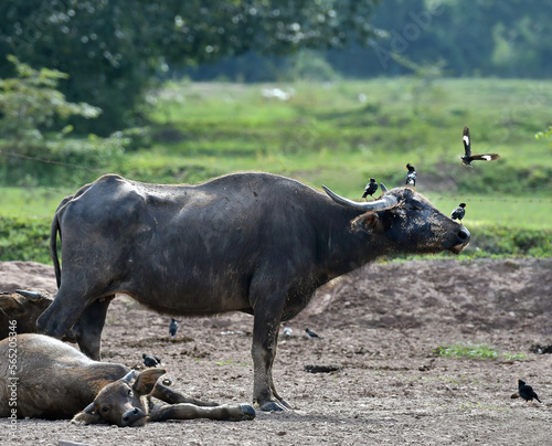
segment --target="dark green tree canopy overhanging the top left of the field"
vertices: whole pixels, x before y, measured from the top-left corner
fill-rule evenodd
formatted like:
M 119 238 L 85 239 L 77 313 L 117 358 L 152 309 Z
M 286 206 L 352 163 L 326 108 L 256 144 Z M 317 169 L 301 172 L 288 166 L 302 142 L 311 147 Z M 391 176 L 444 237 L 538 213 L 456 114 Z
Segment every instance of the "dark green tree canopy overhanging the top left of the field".
M 213 62 L 255 50 L 365 43 L 379 0 L 3 0 L 2 54 L 70 75 L 61 89 L 104 110 L 103 134 L 134 125 L 144 94 L 170 67 Z M 85 123 L 84 123 L 85 124 Z M 98 127 L 100 126 L 100 127 Z

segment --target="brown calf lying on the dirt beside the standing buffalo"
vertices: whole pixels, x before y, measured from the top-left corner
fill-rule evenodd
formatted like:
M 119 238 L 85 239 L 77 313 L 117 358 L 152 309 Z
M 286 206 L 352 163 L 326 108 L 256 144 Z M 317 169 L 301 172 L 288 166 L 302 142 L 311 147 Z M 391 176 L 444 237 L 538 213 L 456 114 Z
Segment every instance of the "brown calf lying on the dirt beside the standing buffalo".
M 216 405 L 185 397 L 157 382 L 164 372 L 147 369 L 140 373 L 123 364 L 93 361 L 43 334 L 9 337 L 0 341 L 0 417 L 73 418 L 117 426 L 255 417 L 247 404 Z M 161 402 L 153 404 L 151 396 Z

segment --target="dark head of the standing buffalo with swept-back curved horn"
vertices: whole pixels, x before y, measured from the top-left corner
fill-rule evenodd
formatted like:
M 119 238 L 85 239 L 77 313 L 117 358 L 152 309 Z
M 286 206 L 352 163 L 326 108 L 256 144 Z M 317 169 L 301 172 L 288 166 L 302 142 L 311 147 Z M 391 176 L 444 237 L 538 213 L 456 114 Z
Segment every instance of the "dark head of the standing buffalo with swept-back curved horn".
M 469 243 L 469 231 L 439 212 L 421 193 L 408 188 L 388 191 L 371 202 L 359 203 L 339 197 L 323 187 L 336 202 L 364 211 L 351 222 L 353 231 L 363 231 L 374 243 L 395 253 L 432 254 L 450 251 L 459 254 Z

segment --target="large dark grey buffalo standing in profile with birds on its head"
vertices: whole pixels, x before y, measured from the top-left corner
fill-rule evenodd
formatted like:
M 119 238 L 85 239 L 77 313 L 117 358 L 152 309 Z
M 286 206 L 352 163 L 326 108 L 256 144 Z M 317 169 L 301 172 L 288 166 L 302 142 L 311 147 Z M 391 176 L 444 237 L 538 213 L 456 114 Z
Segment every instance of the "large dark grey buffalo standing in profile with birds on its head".
M 102 177 L 57 208 L 60 290 L 39 331 L 60 338 L 81 317 L 77 331 L 98 333 L 97 315 L 116 293 L 170 315 L 244 311 L 254 315 L 253 401 L 285 410 L 272 376 L 278 328 L 319 286 L 382 255 L 458 254 L 469 242 L 463 225 L 410 189 L 368 203 L 325 190 L 253 172 L 198 185 Z M 81 349 L 99 358 L 99 337 L 89 338 Z

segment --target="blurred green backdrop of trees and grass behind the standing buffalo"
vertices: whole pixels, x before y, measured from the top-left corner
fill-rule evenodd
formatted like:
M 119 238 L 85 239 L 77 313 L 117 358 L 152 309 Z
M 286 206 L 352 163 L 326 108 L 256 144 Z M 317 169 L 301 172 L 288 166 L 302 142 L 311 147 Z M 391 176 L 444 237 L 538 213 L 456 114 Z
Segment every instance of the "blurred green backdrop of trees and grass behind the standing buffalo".
M 50 263 L 57 204 L 107 172 L 360 200 L 407 162 L 468 204 L 464 257 L 550 257 L 551 22 L 537 0 L 3 0 L 0 259 Z M 464 126 L 501 158 L 460 167 Z

